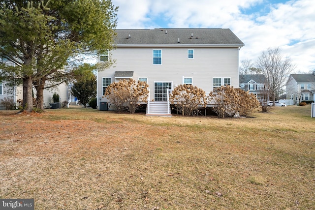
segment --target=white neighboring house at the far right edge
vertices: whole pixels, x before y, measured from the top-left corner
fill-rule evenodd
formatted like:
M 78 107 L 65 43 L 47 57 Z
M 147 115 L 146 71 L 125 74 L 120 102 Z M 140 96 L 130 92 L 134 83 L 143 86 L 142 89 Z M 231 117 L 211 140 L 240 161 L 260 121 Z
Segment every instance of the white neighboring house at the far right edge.
M 315 99 L 315 72 L 312 74 L 291 74 L 286 82 L 286 98 L 294 104 Z

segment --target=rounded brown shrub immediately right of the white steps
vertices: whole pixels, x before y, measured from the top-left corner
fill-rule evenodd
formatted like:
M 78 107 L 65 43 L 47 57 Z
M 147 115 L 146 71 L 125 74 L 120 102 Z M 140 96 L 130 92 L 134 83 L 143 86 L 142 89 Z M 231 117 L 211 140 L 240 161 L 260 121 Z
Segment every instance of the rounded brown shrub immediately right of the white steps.
M 189 116 L 197 111 L 199 106 L 206 107 L 206 92 L 196 86 L 179 85 L 172 91 L 170 102 L 178 108 L 183 116 Z

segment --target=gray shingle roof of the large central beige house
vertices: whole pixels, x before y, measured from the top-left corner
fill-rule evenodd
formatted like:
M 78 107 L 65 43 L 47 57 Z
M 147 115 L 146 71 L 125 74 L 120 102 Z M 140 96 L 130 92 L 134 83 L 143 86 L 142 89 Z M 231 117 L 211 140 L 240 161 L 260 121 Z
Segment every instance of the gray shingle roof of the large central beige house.
M 229 29 L 116 30 L 116 33 L 114 40 L 117 45 L 244 45 Z

